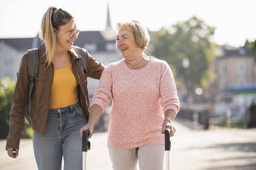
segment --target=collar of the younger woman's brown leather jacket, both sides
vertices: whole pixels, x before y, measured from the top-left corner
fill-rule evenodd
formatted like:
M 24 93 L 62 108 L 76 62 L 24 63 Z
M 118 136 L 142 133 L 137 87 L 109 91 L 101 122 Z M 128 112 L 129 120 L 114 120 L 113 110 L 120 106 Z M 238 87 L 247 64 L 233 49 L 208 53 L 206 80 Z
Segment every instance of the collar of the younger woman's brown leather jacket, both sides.
M 80 53 L 76 50 L 74 46 L 72 46 L 72 49 L 67 49 L 67 52 L 70 53 L 70 56 L 72 56 L 72 60 L 76 60 L 77 58 L 81 58 Z M 45 50 L 45 43 L 43 43 L 39 47 L 39 63 L 46 62 L 46 50 Z

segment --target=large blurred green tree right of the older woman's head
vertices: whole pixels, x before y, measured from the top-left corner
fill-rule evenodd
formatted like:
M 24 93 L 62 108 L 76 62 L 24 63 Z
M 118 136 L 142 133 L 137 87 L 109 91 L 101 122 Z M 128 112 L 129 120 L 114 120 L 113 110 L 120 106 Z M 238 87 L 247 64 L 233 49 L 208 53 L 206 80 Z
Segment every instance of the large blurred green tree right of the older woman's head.
M 207 88 L 213 80 L 215 44 L 211 38 L 214 30 L 214 27 L 193 16 L 169 29 L 162 27 L 151 32 L 153 55 L 170 64 L 176 79 L 185 84 L 191 95 L 196 87 Z M 182 60 L 189 61 L 187 68 L 182 66 Z

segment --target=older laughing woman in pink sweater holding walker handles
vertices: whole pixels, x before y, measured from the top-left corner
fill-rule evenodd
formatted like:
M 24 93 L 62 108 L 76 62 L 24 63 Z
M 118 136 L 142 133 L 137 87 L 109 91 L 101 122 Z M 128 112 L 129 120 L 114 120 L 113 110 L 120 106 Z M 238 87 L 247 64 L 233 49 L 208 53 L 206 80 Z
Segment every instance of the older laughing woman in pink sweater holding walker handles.
M 123 60 L 110 64 L 92 99 L 88 123 L 92 134 L 100 114 L 113 100 L 108 147 L 114 170 L 160 170 L 164 162 L 164 135 L 180 109 L 173 74 L 167 62 L 146 56 L 147 29 L 138 21 L 117 23 L 116 45 Z

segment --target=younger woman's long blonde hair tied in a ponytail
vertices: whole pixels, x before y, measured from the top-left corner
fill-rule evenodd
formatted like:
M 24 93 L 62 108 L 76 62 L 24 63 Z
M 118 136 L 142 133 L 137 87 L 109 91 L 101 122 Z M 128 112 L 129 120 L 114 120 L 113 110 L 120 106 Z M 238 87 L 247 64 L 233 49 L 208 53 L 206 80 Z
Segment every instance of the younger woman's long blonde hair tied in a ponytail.
M 49 66 L 56 50 L 56 34 L 59 27 L 74 19 L 74 16 L 61 8 L 50 7 L 43 15 L 41 23 L 41 38 L 45 43 L 46 63 Z

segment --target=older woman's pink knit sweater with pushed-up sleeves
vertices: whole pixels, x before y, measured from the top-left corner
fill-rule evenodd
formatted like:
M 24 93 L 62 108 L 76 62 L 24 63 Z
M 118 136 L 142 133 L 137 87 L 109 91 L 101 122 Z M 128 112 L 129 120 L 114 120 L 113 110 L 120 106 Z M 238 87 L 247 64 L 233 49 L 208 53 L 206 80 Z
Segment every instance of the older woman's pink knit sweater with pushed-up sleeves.
M 112 149 L 164 144 L 164 112 L 173 109 L 177 113 L 180 109 L 169 65 L 153 57 L 138 70 L 129 69 L 125 60 L 107 66 L 92 105 L 105 110 L 111 100 L 108 147 Z

